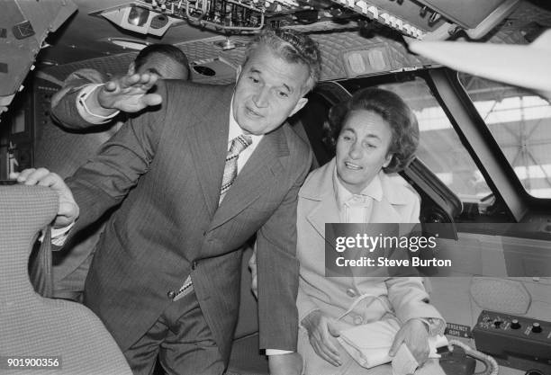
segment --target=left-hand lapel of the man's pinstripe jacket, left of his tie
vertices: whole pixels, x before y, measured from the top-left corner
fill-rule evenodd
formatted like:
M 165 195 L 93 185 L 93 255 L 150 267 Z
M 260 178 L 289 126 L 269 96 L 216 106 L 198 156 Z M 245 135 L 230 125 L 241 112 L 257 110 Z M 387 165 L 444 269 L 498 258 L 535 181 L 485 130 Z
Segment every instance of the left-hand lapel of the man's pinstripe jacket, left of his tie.
M 214 111 L 212 108 L 200 108 L 194 112 L 197 121 L 190 128 L 189 146 L 194 160 L 194 166 L 203 199 L 212 217 L 218 208 L 221 179 L 224 172 L 228 149 L 228 133 L 230 119 L 230 103 L 233 87 L 228 86 L 215 98 L 207 103 L 219 103 Z

